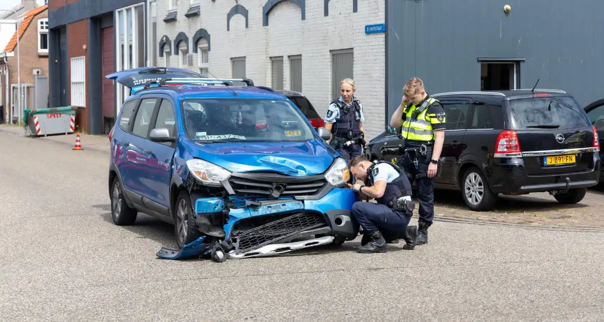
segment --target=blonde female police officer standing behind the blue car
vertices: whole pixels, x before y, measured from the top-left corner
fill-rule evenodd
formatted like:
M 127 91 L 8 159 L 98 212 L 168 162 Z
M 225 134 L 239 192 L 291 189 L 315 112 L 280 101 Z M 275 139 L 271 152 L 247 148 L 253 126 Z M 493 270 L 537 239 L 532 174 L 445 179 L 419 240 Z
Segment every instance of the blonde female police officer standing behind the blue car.
M 355 98 L 355 81 L 340 81 L 341 96 L 327 109 L 325 128 L 332 131 L 329 144 L 346 160 L 363 154 L 365 133 L 363 130 L 363 106 Z

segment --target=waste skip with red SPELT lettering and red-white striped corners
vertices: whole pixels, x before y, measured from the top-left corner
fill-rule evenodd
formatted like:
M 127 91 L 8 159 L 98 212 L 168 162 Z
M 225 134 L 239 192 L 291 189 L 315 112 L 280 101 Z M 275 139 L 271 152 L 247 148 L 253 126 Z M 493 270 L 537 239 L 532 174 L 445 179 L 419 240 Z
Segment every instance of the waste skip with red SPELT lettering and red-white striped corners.
M 77 107 L 51 107 L 50 109 L 25 110 L 24 127 L 30 136 L 74 133 Z

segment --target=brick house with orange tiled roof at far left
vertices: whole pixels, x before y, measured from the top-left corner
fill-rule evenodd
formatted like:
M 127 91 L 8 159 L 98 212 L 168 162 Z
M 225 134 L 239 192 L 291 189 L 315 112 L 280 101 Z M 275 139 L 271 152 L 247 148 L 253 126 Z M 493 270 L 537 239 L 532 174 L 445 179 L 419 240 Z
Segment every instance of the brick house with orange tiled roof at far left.
M 48 83 L 43 78 L 48 74 L 48 6 L 33 8 L 18 19 L 18 30 L 0 53 L 0 105 L 6 123 L 18 122 L 25 109 L 48 107 Z

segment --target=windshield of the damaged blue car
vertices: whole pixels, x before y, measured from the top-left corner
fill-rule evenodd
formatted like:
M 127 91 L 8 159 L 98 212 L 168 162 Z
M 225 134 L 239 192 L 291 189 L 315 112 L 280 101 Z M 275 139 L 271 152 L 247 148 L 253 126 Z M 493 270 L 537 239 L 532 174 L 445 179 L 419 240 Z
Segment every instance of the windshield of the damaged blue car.
M 184 128 L 191 140 L 306 141 L 315 136 L 288 101 L 272 99 L 185 99 Z

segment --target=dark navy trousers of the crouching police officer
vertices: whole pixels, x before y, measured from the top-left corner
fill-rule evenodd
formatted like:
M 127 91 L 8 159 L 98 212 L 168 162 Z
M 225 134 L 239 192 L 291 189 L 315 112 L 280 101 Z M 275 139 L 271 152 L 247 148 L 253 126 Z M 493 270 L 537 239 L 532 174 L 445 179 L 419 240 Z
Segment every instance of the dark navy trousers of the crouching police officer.
M 352 204 L 352 215 L 361 224 L 363 231 L 370 234 L 378 230 L 402 232 L 411 221 L 411 213 L 394 211 L 385 204 L 363 201 Z

